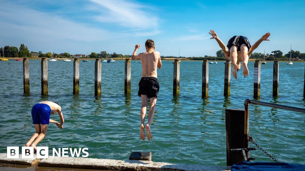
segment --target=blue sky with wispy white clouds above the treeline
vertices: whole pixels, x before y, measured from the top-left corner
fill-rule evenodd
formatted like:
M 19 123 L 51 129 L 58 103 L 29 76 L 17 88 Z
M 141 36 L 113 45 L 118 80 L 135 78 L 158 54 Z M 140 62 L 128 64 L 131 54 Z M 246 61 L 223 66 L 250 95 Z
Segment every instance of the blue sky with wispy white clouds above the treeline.
M 243 35 L 255 52 L 292 49 L 305 53 L 305 1 L 0 0 L 0 46 L 25 44 L 30 51 L 132 54 L 155 41 L 163 56 L 215 55 L 213 29 L 227 44 Z

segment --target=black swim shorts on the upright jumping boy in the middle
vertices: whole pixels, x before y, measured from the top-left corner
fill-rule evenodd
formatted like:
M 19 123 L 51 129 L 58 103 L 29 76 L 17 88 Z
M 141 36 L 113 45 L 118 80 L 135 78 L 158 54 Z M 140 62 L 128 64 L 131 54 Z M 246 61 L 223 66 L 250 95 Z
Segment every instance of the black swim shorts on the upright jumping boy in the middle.
M 158 97 L 159 82 L 156 77 L 142 77 L 139 82 L 138 96 L 147 95 L 148 98 Z

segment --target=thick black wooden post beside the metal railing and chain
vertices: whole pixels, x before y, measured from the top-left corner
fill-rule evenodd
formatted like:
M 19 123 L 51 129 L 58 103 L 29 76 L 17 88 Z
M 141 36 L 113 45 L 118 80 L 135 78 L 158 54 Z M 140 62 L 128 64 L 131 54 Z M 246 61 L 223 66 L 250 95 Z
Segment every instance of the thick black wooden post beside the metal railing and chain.
M 248 148 L 248 122 L 245 110 L 226 109 L 226 143 L 227 143 L 227 166 L 244 161 L 241 152 L 230 152 L 232 148 Z M 246 152 L 249 158 L 249 152 Z

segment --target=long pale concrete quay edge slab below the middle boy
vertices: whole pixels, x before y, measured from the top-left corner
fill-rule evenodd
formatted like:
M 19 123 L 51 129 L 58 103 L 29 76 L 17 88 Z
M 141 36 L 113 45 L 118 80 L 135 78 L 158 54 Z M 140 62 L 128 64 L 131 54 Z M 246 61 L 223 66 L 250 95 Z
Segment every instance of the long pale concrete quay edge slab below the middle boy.
M 53 156 L 49 156 L 48 159 L 42 159 L 38 166 L 127 171 L 230 171 L 230 166 L 200 166 L 139 160 L 112 160 Z

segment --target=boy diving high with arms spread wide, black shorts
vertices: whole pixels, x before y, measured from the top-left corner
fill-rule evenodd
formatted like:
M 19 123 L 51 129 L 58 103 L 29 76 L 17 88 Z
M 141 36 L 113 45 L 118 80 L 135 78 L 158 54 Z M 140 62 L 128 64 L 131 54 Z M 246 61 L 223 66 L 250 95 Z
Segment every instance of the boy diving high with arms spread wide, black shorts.
M 250 42 L 247 37 L 244 36 L 233 36 L 229 42 L 227 47 L 229 48 L 229 51 L 227 47 L 222 43 L 222 41 L 217 37 L 217 34 L 214 30 L 210 30 L 212 35 L 212 38 L 215 39 L 221 49 L 224 51 L 224 56 L 226 60 L 230 60 L 232 62 L 233 71 L 232 74 L 235 79 L 237 79 L 237 71 L 240 69 L 240 62 L 242 62 L 242 70 L 244 77 L 249 75 L 249 70 L 247 67 L 248 59 L 250 58 L 250 55 L 262 43 L 263 40 L 269 40 L 268 37 L 270 36 L 270 33 L 266 33 L 264 36 L 262 36 L 253 46 L 250 45 Z

